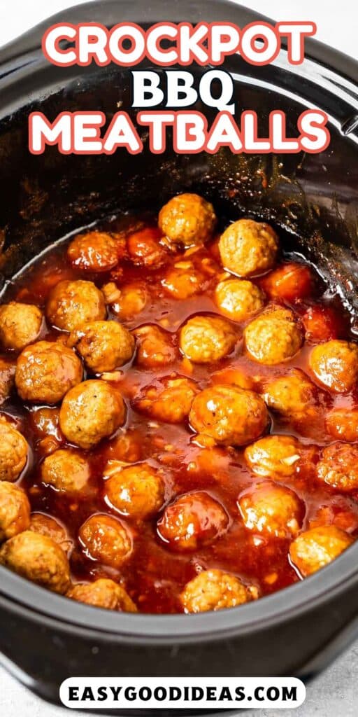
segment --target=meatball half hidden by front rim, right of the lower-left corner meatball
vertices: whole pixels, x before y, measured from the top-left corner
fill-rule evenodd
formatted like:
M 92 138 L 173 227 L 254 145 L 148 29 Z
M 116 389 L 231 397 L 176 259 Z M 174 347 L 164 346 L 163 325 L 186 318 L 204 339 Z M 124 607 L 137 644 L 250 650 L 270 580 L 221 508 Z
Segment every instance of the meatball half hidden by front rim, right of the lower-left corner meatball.
M 66 597 L 107 610 L 137 612 L 137 607 L 124 587 L 107 578 L 100 578 L 92 583 L 77 583 L 68 590 Z

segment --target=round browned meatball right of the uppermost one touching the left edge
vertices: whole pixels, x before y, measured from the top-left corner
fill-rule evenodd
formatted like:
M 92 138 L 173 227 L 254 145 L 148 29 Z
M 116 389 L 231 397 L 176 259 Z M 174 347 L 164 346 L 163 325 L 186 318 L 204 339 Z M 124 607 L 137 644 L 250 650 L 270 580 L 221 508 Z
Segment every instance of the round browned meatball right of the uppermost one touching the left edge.
M 105 297 L 92 281 L 60 281 L 49 293 L 46 315 L 53 326 L 72 331 L 106 318 Z

